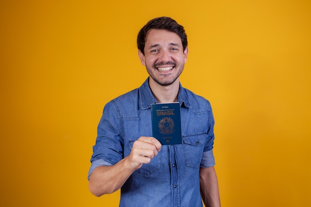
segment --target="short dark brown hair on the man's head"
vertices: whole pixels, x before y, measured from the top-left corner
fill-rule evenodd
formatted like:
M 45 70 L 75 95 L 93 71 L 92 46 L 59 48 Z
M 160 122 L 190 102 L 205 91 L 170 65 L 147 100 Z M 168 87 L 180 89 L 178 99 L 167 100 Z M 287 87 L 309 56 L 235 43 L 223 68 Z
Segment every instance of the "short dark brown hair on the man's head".
M 165 29 L 170 32 L 176 33 L 182 43 L 183 51 L 185 51 L 188 41 L 187 35 L 185 33 L 184 27 L 178 24 L 174 19 L 166 16 L 156 17 L 150 20 L 138 33 L 137 35 L 137 47 L 145 55 L 145 43 L 148 31 L 151 29 Z

